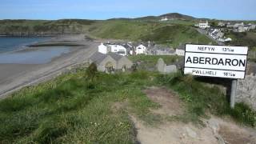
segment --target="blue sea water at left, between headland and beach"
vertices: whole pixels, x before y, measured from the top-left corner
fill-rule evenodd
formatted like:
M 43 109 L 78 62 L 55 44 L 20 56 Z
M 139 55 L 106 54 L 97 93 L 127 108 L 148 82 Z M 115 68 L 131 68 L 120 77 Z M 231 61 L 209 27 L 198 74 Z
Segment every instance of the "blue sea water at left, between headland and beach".
M 28 47 L 50 38 L 0 37 L 0 64 L 44 64 L 70 52 L 67 46 Z

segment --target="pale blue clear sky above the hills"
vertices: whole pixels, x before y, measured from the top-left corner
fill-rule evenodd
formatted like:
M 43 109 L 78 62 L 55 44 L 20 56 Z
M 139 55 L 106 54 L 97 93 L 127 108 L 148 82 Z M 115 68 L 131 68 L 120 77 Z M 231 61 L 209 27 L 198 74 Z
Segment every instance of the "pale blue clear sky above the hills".
M 256 20 L 256 0 L 0 0 L 0 19 L 138 18 L 174 12 Z

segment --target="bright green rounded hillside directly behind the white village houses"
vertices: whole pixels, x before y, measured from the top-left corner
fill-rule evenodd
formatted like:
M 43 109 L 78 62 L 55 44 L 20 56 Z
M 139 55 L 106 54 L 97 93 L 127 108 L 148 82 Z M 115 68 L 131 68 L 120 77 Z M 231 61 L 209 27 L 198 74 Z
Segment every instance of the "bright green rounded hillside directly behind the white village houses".
M 190 26 L 170 23 L 142 21 L 106 21 L 90 27 L 90 34 L 99 38 L 130 39 L 133 41 L 154 41 L 159 44 L 178 46 L 179 43 L 212 42 Z

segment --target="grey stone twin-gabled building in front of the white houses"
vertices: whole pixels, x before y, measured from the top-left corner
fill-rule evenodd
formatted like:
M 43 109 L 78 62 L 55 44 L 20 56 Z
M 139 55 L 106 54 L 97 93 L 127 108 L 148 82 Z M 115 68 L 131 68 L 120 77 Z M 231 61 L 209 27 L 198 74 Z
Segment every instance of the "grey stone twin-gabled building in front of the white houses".
M 111 52 L 108 54 L 96 52 L 90 57 L 89 62 L 90 64 L 94 62 L 98 71 L 106 73 L 129 70 L 133 66 L 133 62 L 127 57 Z

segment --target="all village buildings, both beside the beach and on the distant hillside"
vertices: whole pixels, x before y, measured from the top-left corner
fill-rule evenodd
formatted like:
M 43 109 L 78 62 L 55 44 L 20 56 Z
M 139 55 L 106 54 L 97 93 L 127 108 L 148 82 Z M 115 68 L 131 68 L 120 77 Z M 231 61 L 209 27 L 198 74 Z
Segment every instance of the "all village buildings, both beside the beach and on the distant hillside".
M 169 18 L 162 18 L 160 21 L 171 21 Z M 226 33 L 242 33 L 250 30 L 255 30 L 255 24 L 244 24 L 243 22 L 218 22 L 217 26 L 212 26 L 207 20 L 205 22 L 199 22 L 194 25 L 198 27 L 198 32 L 205 34 L 208 38 L 213 39 L 218 45 L 225 45 L 227 42 L 231 42 L 232 38 L 226 37 Z M 147 55 L 147 56 L 179 56 L 184 57 L 185 44 L 180 43 L 178 47 L 166 46 L 156 44 L 155 42 L 102 42 L 98 46 L 98 51 L 93 54 L 89 59 L 90 63 L 95 63 L 98 66 L 99 71 L 114 72 L 130 70 L 136 63 L 130 61 L 127 56 L 135 55 Z M 162 62 L 162 60 L 159 60 Z M 164 62 L 162 62 L 164 63 Z M 178 62 L 177 62 L 178 63 Z M 181 66 L 170 65 L 162 66 L 162 70 L 158 67 L 159 72 L 175 72 Z M 163 64 L 165 65 L 165 63 Z M 159 66 L 159 64 L 157 64 Z

